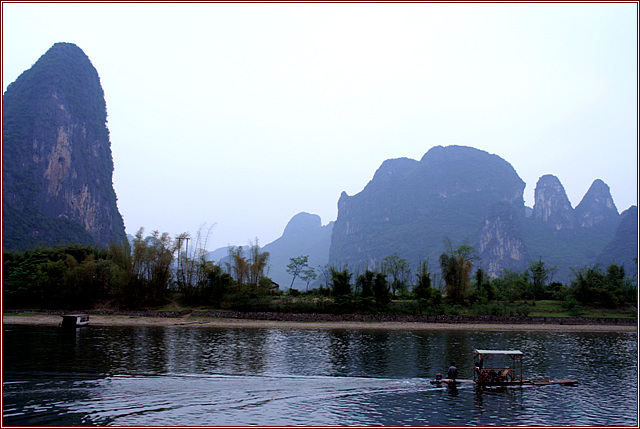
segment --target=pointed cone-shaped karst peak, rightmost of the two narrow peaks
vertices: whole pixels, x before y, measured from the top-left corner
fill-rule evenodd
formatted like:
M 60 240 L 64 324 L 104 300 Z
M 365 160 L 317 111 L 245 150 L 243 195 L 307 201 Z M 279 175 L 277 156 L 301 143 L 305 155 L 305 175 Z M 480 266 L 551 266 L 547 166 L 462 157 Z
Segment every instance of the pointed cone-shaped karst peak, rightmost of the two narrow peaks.
M 575 218 L 578 226 L 583 228 L 618 222 L 620 215 L 606 183 L 600 179 L 593 181 L 580 204 L 576 206 Z

